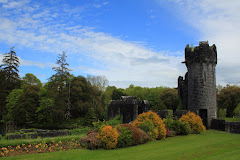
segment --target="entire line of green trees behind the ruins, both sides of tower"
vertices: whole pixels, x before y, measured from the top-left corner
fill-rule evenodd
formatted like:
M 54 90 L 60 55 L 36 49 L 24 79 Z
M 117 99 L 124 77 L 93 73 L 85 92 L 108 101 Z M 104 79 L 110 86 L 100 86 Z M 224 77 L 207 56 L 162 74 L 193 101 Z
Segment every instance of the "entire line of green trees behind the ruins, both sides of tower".
M 16 127 L 57 128 L 71 120 L 90 126 L 98 119 L 106 119 L 109 101 L 123 95 L 148 100 L 152 110 L 182 109 L 177 89 L 108 86 L 105 76 L 88 75 L 85 78 L 70 74 L 66 57 L 65 52 L 59 54 L 57 67 L 52 68 L 55 74 L 43 86 L 32 73 L 20 78 L 20 62 L 14 48 L 4 54 L 0 66 L 0 122 L 7 130 Z M 239 90 L 237 86 L 227 86 L 219 91 L 218 104 L 227 109 L 229 116 L 240 102 Z

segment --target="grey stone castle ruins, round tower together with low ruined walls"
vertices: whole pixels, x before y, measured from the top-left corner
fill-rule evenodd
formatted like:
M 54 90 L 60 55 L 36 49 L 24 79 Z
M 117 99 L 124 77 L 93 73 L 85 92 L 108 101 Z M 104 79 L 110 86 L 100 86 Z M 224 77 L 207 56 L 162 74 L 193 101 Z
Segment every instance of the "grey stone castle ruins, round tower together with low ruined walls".
M 181 116 L 187 111 L 198 114 L 203 124 L 209 128 L 212 119 L 217 118 L 216 102 L 216 72 L 217 49 L 207 41 L 199 42 L 199 46 L 185 48 L 185 61 L 187 67 L 185 76 L 178 77 L 178 95 L 183 110 L 173 111 L 173 115 Z M 116 115 L 123 116 L 123 122 L 129 123 L 143 112 L 149 110 L 147 100 L 138 101 L 136 97 L 122 96 L 119 100 L 112 100 L 108 107 L 108 118 Z M 162 118 L 167 111 L 156 111 Z

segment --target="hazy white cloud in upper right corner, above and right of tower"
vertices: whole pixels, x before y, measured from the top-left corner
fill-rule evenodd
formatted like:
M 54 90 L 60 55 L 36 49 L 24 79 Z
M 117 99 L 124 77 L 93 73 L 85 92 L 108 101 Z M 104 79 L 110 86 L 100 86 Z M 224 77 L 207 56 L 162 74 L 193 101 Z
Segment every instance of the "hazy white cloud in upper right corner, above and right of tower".
M 161 0 L 157 0 L 160 4 Z M 240 72 L 240 1 L 239 0 L 168 0 L 176 15 L 198 29 L 199 41 L 216 44 L 218 51 L 217 83 L 235 84 Z

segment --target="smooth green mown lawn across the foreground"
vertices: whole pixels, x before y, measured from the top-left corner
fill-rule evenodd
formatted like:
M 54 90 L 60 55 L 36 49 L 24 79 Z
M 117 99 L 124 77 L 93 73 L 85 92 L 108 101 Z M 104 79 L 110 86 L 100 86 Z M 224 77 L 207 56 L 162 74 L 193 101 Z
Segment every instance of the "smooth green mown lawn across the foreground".
M 15 160 L 238 160 L 240 134 L 208 130 L 206 134 L 177 136 L 144 145 L 114 150 L 68 150 L 35 155 L 23 155 L 2 159 Z

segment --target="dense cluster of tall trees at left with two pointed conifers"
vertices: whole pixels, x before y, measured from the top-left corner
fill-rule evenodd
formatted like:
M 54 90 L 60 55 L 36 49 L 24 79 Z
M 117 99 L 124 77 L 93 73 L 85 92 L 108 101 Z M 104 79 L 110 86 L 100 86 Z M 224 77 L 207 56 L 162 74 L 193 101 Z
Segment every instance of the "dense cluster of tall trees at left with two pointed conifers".
M 57 129 L 69 119 L 91 126 L 92 122 L 105 119 L 101 84 L 92 85 L 83 76 L 71 75 L 66 58 L 65 52 L 59 54 L 53 67 L 55 74 L 43 86 L 31 73 L 21 80 L 16 53 L 12 49 L 5 54 L 0 66 L 0 122 L 5 124 L 6 131 L 19 127 Z

